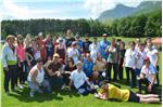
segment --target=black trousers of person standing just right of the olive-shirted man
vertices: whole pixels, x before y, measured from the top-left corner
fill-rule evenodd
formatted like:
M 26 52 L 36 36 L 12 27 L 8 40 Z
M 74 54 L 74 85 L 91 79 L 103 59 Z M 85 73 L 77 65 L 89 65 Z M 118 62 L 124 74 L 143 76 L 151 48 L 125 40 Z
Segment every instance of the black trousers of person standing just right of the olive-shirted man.
M 124 63 L 124 58 L 122 57 L 120 61 L 120 64 L 117 65 L 117 75 L 118 75 L 118 79 L 122 80 L 123 79 L 123 72 L 124 72 L 124 67 L 123 67 L 123 63 Z

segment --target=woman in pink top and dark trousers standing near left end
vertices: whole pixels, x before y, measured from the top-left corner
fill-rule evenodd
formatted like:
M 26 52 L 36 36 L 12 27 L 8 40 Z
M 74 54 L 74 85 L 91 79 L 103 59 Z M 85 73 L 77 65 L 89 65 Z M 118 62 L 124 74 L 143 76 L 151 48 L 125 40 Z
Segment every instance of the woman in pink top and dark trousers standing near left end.
M 23 84 L 26 80 L 25 78 L 26 67 L 25 67 L 25 45 L 23 42 L 22 35 L 17 36 L 16 51 L 17 51 L 17 57 L 18 57 L 18 72 L 17 72 L 17 79 L 20 78 L 18 88 L 23 89 Z

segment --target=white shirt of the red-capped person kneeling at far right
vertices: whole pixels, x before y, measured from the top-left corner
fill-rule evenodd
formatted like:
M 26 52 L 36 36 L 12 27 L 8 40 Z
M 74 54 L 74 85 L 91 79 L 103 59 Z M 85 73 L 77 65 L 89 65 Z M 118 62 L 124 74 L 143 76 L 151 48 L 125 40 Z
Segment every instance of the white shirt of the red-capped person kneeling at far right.
M 149 65 L 149 67 L 147 68 L 146 65 L 142 66 L 141 68 L 141 73 L 146 75 L 146 78 L 152 82 L 152 75 L 156 73 L 156 68 L 153 65 Z M 156 80 L 155 82 L 156 83 Z

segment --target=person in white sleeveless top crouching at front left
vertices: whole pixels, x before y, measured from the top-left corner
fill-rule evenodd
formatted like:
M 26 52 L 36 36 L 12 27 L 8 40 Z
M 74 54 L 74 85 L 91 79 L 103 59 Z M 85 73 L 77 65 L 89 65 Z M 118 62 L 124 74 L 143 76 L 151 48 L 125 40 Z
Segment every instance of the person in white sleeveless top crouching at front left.
M 34 97 L 35 92 L 43 93 L 43 91 L 51 92 L 49 82 L 45 79 L 45 70 L 41 58 L 38 58 L 37 64 L 30 69 L 27 78 L 30 88 L 30 97 Z M 43 89 L 43 91 L 41 90 Z

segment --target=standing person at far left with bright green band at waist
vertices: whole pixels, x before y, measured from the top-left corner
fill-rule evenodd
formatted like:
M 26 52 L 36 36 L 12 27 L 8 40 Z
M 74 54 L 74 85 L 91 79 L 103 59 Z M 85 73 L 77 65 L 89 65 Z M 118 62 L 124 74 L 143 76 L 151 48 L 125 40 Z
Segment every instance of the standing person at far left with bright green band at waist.
M 4 91 L 9 95 L 9 82 L 11 79 L 11 90 L 14 91 L 16 70 L 17 70 L 17 56 L 14 45 L 15 37 L 9 35 L 7 37 L 7 43 L 2 48 L 2 67 L 4 71 Z

